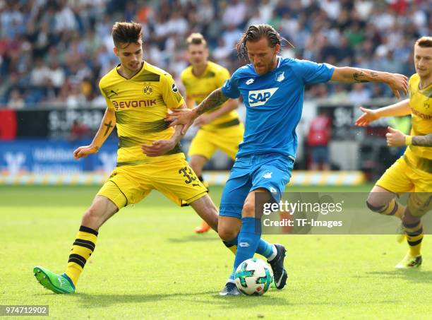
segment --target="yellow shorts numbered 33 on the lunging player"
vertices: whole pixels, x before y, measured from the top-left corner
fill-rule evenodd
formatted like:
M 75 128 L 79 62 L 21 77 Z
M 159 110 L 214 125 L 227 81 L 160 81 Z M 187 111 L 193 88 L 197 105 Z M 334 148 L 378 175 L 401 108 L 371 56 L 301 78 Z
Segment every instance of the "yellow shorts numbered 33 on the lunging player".
M 152 162 L 143 165 L 116 167 L 97 192 L 106 196 L 121 209 L 130 203 L 138 203 L 152 189 L 160 191 L 181 206 L 207 194 L 207 189 L 196 177 L 184 159 Z

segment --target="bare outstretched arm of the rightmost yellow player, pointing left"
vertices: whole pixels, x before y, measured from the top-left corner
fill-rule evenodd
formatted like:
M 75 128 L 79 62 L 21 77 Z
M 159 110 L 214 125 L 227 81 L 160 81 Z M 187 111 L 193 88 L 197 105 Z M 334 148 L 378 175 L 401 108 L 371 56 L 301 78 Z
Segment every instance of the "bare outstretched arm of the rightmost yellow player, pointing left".
M 397 102 L 394 105 L 382 107 L 380 109 L 366 109 L 360 107 L 363 114 L 356 119 L 356 126 L 367 126 L 382 117 L 399 117 L 411 114 L 411 107 L 409 106 L 409 99 Z

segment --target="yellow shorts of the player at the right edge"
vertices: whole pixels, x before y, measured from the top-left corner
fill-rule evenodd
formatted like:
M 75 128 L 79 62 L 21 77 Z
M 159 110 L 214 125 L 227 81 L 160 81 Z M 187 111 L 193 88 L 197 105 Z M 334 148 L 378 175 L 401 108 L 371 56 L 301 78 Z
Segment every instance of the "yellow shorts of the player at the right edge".
M 408 165 L 405 159 L 402 156 L 385 170 L 376 185 L 395 194 L 411 192 L 407 203 L 409 212 L 421 217 L 432 209 L 432 174 Z M 411 163 L 412 158 L 409 159 Z

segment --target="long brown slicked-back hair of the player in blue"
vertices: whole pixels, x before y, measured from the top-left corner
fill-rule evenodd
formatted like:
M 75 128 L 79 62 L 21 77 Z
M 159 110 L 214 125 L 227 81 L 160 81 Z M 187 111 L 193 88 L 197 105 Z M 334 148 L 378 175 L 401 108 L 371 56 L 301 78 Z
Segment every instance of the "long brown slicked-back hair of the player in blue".
M 241 35 L 239 42 L 236 44 L 237 53 L 240 56 L 247 54 L 248 49 L 246 48 L 246 42 L 257 42 L 263 37 L 268 40 L 270 48 L 274 48 L 276 45 L 282 47 L 282 40 L 286 41 L 291 47 L 294 46 L 287 39 L 282 37 L 279 32 L 275 30 L 271 25 L 260 24 L 260 25 L 249 25 L 248 30 Z

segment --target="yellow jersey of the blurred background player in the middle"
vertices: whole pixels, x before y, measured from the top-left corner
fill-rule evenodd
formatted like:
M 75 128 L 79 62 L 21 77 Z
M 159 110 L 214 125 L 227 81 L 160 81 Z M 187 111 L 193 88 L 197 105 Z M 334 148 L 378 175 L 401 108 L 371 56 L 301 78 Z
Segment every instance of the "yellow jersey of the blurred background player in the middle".
M 195 100 L 196 105 L 198 105 L 210 93 L 224 85 L 224 82 L 229 79 L 229 71 L 219 64 L 208 61 L 205 71 L 200 76 L 195 76 L 192 72 L 192 66 L 188 66 L 181 72 L 180 77 L 184 88 L 186 88 L 187 97 Z M 212 112 L 218 108 L 213 109 Z M 205 124 L 201 129 L 214 131 L 215 129 L 226 128 L 239 123 L 239 114 L 232 110 L 217 117 L 209 124 Z

